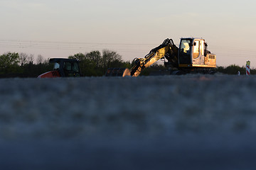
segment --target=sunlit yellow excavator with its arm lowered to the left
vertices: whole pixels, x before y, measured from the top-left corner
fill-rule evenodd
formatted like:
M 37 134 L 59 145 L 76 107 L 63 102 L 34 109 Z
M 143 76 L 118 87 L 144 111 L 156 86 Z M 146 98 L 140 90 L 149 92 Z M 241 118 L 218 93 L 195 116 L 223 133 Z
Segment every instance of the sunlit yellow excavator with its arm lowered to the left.
M 170 74 L 202 73 L 214 74 L 216 55 L 207 49 L 203 38 L 181 38 L 179 47 L 172 39 L 152 49 L 144 58 L 134 58 L 132 68 L 107 69 L 106 77 L 138 77 L 142 70 L 150 67 L 158 60 L 164 60 L 164 66 L 169 68 Z

